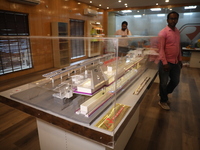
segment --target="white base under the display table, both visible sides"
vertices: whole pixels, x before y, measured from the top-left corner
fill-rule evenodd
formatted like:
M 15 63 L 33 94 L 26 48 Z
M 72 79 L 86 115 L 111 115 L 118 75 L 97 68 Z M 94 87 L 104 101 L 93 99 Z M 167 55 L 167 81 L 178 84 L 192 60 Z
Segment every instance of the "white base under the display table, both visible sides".
M 139 120 L 139 108 L 124 128 L 122 134 L 115 143 L 115 147 L 109 148 L 105 145 L 86 139 L 71 133 L 58 126 L 37 119 L 37 127 L 41 150 L 122 150 L 125 148 Z M 114 137 L 113 137 L 114 138 Z M 111 141 L 112 142 L 112 141 Z

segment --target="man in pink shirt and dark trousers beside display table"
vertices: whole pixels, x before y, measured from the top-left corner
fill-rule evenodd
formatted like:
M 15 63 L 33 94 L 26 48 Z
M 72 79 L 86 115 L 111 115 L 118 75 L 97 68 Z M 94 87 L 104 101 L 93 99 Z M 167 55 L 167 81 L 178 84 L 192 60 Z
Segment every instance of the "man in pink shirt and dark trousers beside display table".
M 179 84 L 182 68 L 180 33 L 176 28 L 179 19 L 177 12 L 167 15 L 168 25 L 159 32 L 159 96 L 158 104 L 165 110 L 170 110 L 168 105 L 168 94 L 172 93 Z

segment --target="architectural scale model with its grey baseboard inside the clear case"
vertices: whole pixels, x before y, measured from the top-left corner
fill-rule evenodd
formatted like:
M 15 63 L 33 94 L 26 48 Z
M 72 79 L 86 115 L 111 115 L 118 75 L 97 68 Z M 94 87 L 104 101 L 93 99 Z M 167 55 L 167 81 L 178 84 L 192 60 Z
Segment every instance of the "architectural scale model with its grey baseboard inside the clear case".
M 27 91 L 13 94 L 12 97 L 43 109 L 55 107 L 53 112 L 73 116 L 83 122 L 81 117 L 93 116 L 87 120 L 90 123 L 138 80 L 149 68 L 151 58 L 157 56 L 157 48 L 153 46 L 135 48 L 123 57 L 118 57 L 115 50 L 44 74 L 43 80 L 30 83 Z M 138 94 L 146 82 L 148 80 L 141 83 L 134 94 Z M 59 109 L 65 109 L 68 113 L 64 114 Z

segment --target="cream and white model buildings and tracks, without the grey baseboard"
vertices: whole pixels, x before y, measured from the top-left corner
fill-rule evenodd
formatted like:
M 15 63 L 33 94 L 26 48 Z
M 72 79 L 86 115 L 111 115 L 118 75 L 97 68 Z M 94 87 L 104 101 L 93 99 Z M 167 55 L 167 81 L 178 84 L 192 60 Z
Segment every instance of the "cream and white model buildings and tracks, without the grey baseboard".
M 90 117 L 102 105 L 112 103 L 111 99 L 115 97 L 115 93 L 119 94 L 122 89 L 125 90 L 147 69 L 149 55 L 158 54 L 153 49 L 145 48 L 132 50 L 125 57 L 106 54 L 43 76 L 51 80 L 62 80 L 53 89 L 56 91 L 53 97 L 60 99 L 61 103 L 74 94 L 87 96 L 76 114 Z M 55 81 L 53 83 L 55 84 Z M 141 89 L 142 86 L 137 92 Z

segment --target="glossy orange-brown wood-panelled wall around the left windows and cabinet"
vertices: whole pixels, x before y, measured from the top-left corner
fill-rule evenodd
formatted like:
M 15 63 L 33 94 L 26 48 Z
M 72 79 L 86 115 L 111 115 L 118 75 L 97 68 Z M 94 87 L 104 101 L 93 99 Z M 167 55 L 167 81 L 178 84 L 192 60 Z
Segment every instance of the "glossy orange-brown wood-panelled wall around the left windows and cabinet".
M 1 0 L 0 10 L 21 12 L 29 14 L 30 36 L 51 36 L 51 22 L 69 22 L 69 19 L 80 19 L 85 21 L 99 21 L 105 25 L 105 10 L 95 17 L 83 15 L 84 8 L 97 10 L 96 7 L 86 4 L 78 4 L 75 0 L 41 0 L 39 5 L 25 5 L 7 0 Z M 86 24 L 87 25 L 87 24 Z M 85 28 L 86 30 L 87 28 Z M 87 31 L 85 31 L 86 33 Z M 35 41 L 35 42 L 34 42 Z M 38 42 L 39 41 L 39 42 Z M 14 78 L 53 67 L 53 50 L 51 40 L 31 40 L 31 51 L 33 69 L 19 71 L 0 76 L 0 81 Z

